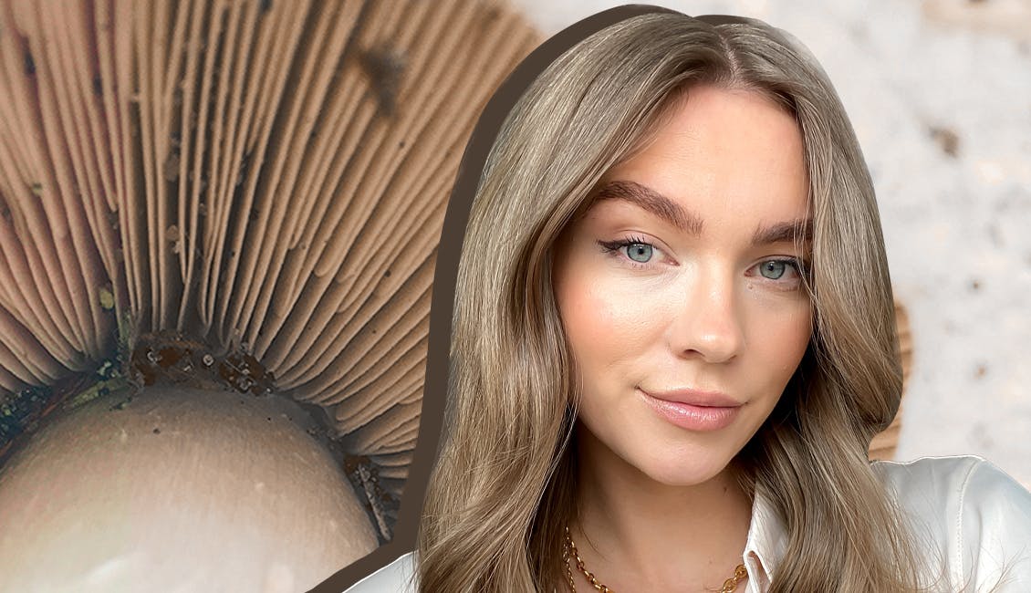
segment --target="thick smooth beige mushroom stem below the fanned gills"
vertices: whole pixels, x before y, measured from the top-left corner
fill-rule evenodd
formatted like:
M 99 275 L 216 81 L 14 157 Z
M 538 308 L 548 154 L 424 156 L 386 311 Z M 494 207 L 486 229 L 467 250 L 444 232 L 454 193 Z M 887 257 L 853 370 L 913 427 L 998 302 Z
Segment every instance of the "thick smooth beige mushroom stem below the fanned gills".
M 0 472 L 0 574 L 13 591 L 307 590 L 378 545 L 314 426 L 284 397 L 163 384 L 65 410 Z

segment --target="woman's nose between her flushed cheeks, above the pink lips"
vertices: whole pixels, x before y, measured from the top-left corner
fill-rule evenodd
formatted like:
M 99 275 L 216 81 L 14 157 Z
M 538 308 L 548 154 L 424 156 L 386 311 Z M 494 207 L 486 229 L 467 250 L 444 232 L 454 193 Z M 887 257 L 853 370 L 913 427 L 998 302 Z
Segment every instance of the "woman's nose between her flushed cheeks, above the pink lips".
M 684 306 L 669 327 L 669 341 L 677 356 L 723 363 L 740 354 L 744 344 L 742 311 L 731 274 L 709 270 L 687 279 Z

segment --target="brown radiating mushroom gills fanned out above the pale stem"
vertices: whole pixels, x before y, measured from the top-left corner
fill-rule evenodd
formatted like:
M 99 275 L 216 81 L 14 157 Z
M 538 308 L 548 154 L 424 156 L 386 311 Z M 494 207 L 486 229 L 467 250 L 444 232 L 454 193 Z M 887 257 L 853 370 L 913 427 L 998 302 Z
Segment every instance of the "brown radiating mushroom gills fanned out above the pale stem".
M 0 464 L 117 390 L 288 397 L 389 539 L 503 8 L 0 0 Z

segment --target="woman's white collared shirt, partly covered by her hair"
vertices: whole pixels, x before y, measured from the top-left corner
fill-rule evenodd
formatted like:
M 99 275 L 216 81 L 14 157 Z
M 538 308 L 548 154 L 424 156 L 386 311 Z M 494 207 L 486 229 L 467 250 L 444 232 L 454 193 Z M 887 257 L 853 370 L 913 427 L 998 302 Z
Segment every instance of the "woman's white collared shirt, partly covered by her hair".
M 941 591 L 1031 592 L 1031 493 L 974 456 L 924 457 L 872 464 L 923 541 L 928 566 L 943 567 Z M 744 593 L 764 593 L 788 546 L 788 533 L 768 500 L 756 496 L 743 562 Z M 999 582 L 1002 568 L 1006 579 Z M 414 593 L 411 553 L 344 593 Z

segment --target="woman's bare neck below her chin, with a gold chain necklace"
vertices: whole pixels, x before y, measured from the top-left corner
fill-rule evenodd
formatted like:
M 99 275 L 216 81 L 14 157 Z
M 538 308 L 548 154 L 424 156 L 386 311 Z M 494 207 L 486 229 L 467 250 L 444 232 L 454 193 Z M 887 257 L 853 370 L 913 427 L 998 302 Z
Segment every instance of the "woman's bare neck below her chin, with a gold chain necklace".
M 741 562 L 752 495 L 728 468 L 693 486 L 659 483 L 577 430 L 573 541 L 616 591 L 702 591 Z M 575 569 L 575 565 L 574 565 Z

